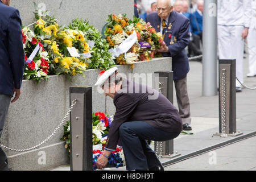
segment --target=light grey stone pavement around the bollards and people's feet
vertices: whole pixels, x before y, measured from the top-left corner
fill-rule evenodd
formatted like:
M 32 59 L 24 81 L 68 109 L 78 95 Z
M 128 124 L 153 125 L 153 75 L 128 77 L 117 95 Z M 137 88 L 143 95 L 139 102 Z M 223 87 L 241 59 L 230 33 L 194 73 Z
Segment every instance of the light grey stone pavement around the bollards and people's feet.
M 256 77 L 246 77 L 248 72 L 247 57 L 248 55 L 246 55 L 243 67 L 244 84 L 255 87 Z M 173 159 L 160 159 L 165 169 L 255 170 L 256 137 L 247 138 L 229 145 L 226 144 L 234 142 L 236 139 L 256 134 L 256 90 L 243 88 L 241 93 L 236 94 L 237 131 L 240 131 L 241 135 L 227 138 L 213 136 L 213 134 L 218 133 L 218 95 L 202 96 L 202 64 L 191 61 L 189 65 L 191 70 L 187 78 L 192 115 L 191 126 L 193 130 L 191 132 L 193 135 L 181 134 L 174 140 L 174 152 L 177 152 L 179 156 Z M 174 105 L 177 107 L 175 93 Z M 214 147 L 221 148 L 215 150 L 213 149 Z M 193 155 L 197 156 L 191 158 Z M 214 159 L 216 160 L 214 161 Z M 69 166 L 53 170 L 69 170 Z M 107 170 L 125 170 L 125 167 L 119 169 L 108 168 Z

